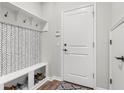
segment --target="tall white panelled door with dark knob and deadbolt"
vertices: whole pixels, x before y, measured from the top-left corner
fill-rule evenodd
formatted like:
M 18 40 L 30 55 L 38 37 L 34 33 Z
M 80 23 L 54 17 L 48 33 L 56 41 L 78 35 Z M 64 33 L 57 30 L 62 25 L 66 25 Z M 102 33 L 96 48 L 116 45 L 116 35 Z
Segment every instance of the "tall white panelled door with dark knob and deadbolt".
M 64 80 L 93 87 L 93 7 L 64 12 Z

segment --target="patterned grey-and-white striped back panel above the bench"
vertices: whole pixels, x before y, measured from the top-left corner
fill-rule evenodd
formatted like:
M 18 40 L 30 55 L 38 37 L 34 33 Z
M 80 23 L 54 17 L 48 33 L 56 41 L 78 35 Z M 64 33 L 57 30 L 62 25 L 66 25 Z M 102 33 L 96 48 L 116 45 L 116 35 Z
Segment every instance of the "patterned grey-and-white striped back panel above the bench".
M 40 63 L 40 32 L 0 23 L 0 76 Z

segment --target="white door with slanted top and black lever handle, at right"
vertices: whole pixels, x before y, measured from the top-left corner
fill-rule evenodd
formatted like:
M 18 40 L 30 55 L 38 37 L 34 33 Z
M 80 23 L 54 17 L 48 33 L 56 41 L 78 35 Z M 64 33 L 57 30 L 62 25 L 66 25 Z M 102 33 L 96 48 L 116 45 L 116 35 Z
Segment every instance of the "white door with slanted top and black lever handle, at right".
M 124 24 L 111 32 L 111 89 L 124 89 Z

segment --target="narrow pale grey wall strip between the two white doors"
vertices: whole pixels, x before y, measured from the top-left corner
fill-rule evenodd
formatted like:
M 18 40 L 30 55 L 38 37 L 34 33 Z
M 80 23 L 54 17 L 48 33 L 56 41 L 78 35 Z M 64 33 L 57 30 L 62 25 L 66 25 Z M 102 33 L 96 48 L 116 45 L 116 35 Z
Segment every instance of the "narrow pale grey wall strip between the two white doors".
M 96 33 L 96 83 L 108 88 L 109 84 L 109 30 L 111 27 L 111 3 L 97 3 Z

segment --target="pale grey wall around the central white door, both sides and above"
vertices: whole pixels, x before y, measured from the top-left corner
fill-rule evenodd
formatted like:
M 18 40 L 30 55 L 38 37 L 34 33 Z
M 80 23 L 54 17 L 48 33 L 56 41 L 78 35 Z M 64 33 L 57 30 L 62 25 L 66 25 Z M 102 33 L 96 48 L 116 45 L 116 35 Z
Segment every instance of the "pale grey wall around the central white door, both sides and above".
M 60 76 L 60 38 L 55 32 L 61 29 L 61 11 L 79 7 L 86 3 L 44 3 L 43 14 L 49 21 L 49 32 L 43 34 L 42 55 L 43 61 L 50 64 L 50 76 Z M 54 27 L 53 27 L 54 26 Z M 111 4 L 97 3 L 97 87 L 108 88 L 108 44 L 109 27 L 111 26 Z M 47 50 L 47 51 L 46 51 Z

